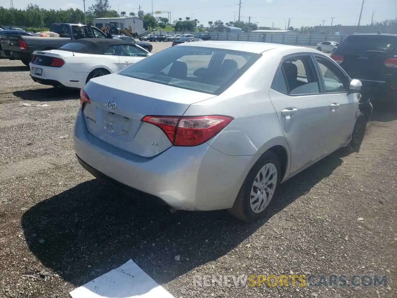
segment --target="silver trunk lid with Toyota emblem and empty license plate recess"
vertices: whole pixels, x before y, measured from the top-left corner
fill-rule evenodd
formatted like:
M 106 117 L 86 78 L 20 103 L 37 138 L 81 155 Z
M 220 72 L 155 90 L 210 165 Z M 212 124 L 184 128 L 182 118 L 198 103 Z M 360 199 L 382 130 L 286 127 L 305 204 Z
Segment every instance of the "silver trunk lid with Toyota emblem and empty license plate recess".
M 153 157 L 172 146 L 146 115 L 182 116 L 190 104 L 214 95 L 153 83 L 118 74 L 92 79 L 84 88 L 90 104 L 83 106 L 87 130 L 114 147 Z

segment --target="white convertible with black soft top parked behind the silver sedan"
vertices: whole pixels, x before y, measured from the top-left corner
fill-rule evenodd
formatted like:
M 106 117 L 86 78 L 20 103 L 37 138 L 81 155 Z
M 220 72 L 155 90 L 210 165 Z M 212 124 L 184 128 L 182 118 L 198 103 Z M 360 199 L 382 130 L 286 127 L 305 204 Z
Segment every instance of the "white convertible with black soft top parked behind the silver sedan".
M 93 77 L 118 72 L 150 55 L 129 41 L 77 39 L 58 50 L 33 52 L 30 75 L 43 85 L 81 89 Z

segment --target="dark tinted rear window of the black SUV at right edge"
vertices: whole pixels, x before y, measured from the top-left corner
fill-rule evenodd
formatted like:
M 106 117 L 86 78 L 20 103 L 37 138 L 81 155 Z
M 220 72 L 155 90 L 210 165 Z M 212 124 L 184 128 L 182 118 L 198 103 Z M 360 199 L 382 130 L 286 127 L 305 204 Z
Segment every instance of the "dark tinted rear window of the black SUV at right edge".
M 335 54 L 368 54 L 368 51 L 381 51 L 397 55 L 397 36 L 350 35 L 335 50 Z

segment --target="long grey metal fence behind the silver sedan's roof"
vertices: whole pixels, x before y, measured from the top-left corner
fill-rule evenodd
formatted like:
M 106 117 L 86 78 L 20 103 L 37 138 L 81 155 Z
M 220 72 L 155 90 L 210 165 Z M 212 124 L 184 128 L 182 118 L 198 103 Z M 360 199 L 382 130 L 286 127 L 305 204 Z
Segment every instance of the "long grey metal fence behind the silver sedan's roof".
M 282 43 L 285 45 L 315 46 L 322 41 L 342 42 L 347 35 L 322 34 L 282 34 L 282 33 L 204 33 L 204 32 L 165 32 L 155 31 L 154 34 L 193 34 L 210 35 L 215 41 L 259 41 L 262 43 Z

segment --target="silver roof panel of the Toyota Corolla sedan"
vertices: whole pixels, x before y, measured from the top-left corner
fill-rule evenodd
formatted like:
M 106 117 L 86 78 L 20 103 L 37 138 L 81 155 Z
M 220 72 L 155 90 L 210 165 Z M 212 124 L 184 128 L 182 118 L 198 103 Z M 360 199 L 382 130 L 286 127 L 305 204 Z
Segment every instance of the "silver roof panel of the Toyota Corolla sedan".
M 260 43 L 257 41 L 200 41 L 199 43 L 184 43 L 181 46 L 202 46 L 206 48 L 221 48 L 226 50 L 237 50 L 242 52 L 250 52 L 255 54 L 260 54 L 272 49 L 301 49 L 305 52 L 315 52 L 312 48 L 306 48 L 303 46 L 291 46 L 282 45 L 278 43 Z

